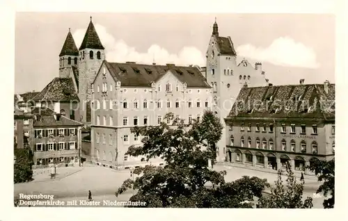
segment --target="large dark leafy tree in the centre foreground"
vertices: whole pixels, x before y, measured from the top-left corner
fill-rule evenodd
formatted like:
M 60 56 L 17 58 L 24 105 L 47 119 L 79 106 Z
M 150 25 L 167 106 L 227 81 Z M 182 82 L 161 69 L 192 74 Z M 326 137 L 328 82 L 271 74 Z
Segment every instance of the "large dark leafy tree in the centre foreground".
M 229 207 L 251 208 L 253 197 L 260 197 L 266 179 L 243 177 L 226 183 L 226 171 L 209 169 L 208 159 L 214 159 L 214 143 L 221 138 L 222 125 L 214 113 L 206 111 L 200 122 L 184 124 L 168 114 L 173 126 L 161 122 L 160 126 L 132 129 L 132 133 L 145 136 L 143 145 L 131 146 L 127 154 L 164 159 L 164 167 L 136 168 L 136 179 L 127 179 L 118 188 L 116 196 L 133 188 L 136 193 L 130 201 L 145 202 L 148 207 Z M 249 202 L 247 202 L 249 201 Z

